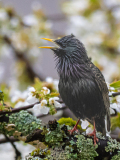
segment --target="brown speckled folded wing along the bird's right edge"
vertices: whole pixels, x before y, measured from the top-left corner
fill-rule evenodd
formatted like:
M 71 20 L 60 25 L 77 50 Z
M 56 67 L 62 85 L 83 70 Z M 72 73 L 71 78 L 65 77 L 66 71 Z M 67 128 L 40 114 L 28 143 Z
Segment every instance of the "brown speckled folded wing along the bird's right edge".
M 108 93 L 109 93 L 108 88 L 101 71 L 91 61 L 89 61 L 88 65 L 91 68 L 95 81 L 102 93 L 106 114 L 107 114 L 107 129 L 108 131 L 110 131 L 110 111 L 109 111 L 110 101 L 108 96 Z

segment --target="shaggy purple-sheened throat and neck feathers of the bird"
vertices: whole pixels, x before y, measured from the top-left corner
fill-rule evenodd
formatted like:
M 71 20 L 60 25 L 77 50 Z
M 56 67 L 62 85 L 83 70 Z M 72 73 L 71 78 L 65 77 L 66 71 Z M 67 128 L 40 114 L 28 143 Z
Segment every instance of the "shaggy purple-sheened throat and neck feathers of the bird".
M 86 63 L 89 61 L 88 57 L 83 60 L 81 57 L 59 57 L 57 58 L 56 68 L 60 78 L 68 81 L 78 80 L 78 78 L 88 77 L 90 72 L 86 67 Z

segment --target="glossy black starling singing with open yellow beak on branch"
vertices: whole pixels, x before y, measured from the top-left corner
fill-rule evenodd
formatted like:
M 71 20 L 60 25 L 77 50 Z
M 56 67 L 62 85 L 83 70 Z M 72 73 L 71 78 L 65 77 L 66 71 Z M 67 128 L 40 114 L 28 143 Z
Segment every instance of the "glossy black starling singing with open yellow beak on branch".
M 53 51 L 59 75 L 60 96 L 78 118 L 71 134 L 76 130 L 80 119 L 88 120 L 94 125 L 90 135 L 94 136 L 96 145 L 96 130 L 104 136 L 110 132 L 110 102 L 103 74 L 91 62 L 83 43 L 73 34 L 58 39 L 42 39 L 55 43 L 55 46 L 39 48 Z

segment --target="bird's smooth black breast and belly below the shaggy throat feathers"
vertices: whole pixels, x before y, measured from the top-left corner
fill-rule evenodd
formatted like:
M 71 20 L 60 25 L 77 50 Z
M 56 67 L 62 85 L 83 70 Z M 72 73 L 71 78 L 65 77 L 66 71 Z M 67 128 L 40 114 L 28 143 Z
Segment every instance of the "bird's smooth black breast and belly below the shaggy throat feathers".
M 99 87 L 91 78 L 59 81 L 59 92 L 64 103 L 81 119 L 100 118 L 106 112 Z

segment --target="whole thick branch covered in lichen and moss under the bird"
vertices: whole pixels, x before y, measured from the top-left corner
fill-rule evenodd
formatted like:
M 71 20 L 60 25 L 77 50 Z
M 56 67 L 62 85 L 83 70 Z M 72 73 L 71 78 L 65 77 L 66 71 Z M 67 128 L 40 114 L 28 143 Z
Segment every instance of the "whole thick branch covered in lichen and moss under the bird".
M 36 147 L 26 160 L 117 160 L 120 159 L 120 143 L 109 137 L 99 139 L 96 146 L 93 138 L 85 135 L 85 131 L 79 126 L 79 132 L 70 135 L 68 129 L 72 128 L 74 121 L 61 119 L 49 121 L 47 126 L 42 125 L 41 120 L 20 111 L 10 115 L 3 115 L 0 122 L 0 132 L 7 136 L 14 136 L 19 140 L 30 143 Z M 62 122 L 64 121 L 65 124 Z

